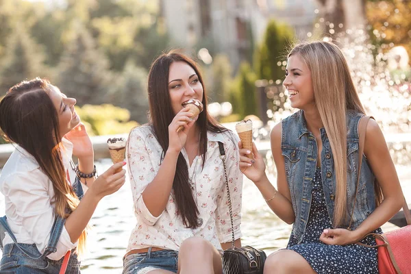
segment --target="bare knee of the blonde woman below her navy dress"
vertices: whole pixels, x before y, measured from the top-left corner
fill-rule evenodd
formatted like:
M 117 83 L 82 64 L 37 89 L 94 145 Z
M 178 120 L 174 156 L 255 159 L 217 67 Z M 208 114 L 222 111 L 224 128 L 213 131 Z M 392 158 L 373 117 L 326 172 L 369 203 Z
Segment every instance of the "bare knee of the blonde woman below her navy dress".
M 310 264 L 299 253 L 282 249 L 271 254 L 264 263 L 264 274 L 315 274 Z

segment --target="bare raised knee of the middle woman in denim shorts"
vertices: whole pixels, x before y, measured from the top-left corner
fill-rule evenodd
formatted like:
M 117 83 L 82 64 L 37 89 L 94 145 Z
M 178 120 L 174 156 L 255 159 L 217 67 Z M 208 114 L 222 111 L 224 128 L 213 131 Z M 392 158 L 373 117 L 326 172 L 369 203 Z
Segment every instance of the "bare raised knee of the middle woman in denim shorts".
M 178 253 L 179 274 L 222 274 L 219 251 L 208 240 L 192 237 L 184 240 Z

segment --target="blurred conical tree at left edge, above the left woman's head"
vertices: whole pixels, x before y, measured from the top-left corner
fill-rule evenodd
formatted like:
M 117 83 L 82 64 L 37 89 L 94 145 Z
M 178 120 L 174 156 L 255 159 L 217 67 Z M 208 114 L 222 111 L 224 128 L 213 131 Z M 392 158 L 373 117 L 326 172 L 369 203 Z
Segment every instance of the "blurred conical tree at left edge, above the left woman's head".
M 47 77 L 43 60 L 40 46 L 30 38 L 23 27 L 15 29 L 0 62 L 0 94 L 4 94 L 24 79 Z

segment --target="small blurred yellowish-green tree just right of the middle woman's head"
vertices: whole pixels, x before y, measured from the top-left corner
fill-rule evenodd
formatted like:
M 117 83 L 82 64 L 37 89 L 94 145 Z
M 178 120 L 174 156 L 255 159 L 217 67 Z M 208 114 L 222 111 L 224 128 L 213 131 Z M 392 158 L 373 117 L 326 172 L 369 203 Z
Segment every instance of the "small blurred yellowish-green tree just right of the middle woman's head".
M 212 88 L 208 96 L 214 102 L 229 99 L 229 89 L 232 83 L 232 66 L 226 55 L 216 55 L 212 62 Z

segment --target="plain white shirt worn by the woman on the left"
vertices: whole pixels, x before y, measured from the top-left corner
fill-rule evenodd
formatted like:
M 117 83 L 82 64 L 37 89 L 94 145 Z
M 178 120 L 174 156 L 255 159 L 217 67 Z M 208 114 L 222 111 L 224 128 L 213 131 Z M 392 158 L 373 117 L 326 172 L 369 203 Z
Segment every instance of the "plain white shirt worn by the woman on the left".
M 69 170 L 71 183 L 74 183 L 75 171 L 70 167 L 73 144 L 63 138 L 62 147 L 63 164 Z M 5 196 L 5 215 L 17 242 L 34 243 L 40 253 L 43 253 L 49 243 L 55 220 L 53 184 L 40 171 L 36 159 L 20 146 L 16 146 L 1 171 L 0 191 Z M 6 232 L 3 246 L 11 243 L 13 240 Z M 60 260 L 67 251 L 75 247 L 77 242 L 71 242 L 66 227 L 63 227 L 57 251 L 47 258 Z

